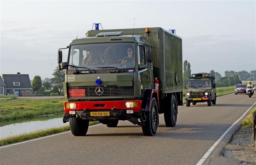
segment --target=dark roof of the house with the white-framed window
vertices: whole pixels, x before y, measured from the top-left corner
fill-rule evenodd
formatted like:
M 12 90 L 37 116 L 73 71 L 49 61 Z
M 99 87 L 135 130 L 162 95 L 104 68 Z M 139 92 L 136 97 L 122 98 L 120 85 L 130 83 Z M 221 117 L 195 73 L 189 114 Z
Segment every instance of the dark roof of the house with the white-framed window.
M 32 89 L 28 74 L 3 74 L 6 89 Z M 20 82 L 20 86 L 14 83 Z

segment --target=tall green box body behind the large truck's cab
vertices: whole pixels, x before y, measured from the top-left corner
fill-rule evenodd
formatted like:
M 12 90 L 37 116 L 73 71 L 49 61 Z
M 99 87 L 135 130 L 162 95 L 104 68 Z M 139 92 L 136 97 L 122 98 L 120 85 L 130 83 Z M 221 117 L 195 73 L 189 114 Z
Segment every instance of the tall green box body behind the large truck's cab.
M 86 37 L 94 37 L 101 32 L 123 32 L 122 35 L 145 36 L 153 51 L 154 78 L 159 78 L 162 94 L 182 91 L 182 39 L 161 27 L 91 30 Z M 177 76 L 176 76 L 177 75 Z M 177 77 L 177 79 L 176 79 Z

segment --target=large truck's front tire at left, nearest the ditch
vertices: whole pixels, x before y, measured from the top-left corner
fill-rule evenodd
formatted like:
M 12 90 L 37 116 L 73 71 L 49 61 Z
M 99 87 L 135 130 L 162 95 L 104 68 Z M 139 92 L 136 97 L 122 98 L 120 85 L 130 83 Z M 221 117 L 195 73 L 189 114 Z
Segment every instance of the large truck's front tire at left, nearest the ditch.
M 84 136 L 88 131 L 89 120 L 71 117 L 69 119 L 69 126 L 74 136 Z

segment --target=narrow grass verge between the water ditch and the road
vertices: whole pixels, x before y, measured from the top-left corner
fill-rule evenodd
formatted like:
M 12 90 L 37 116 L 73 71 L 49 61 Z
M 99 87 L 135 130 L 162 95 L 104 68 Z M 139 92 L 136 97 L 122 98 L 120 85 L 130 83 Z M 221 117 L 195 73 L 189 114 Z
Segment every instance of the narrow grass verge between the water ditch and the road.
M 99 123 L 100 123 L 99 121 L 90 122 L 89 125 L 94 125 L 94 124 L 99 124 Z M 33 132 L 24 133 L 24 134 L 20 134 L 20 135 L 10 136 L 7 138 L 0 139 L 0 146 L 17 143 L 17 142 L 21 142 L 21 141 L 25 141 L 25 140 L 29 140 L 29 139 L 35 139 L 35 138 L 39 138 L 42 136 L 47 136 L 47 135 L 51 135 L 54 133 L 68 131 L 68 130 L 70 130 L 69 125 L 65 125 L 65 126 L 61 126 L 61 127 L 49 128 L 49 129 L 45 129 L 45 130 L 33 131 Z

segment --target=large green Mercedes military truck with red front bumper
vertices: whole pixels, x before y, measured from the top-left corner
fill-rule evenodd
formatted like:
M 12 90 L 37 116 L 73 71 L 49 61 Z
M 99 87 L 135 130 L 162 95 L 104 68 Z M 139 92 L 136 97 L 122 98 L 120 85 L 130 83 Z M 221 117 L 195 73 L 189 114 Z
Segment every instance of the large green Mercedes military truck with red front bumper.
M 58 51 L 66 70 L 65 115 L 73 135 L 83 136 L 89 121 L 116 127 L 119 120 L 141 125 L 153 136 L 164 113 L 167 127 L 182 105 L 182 39 L 161 27 L 90 30 Z

